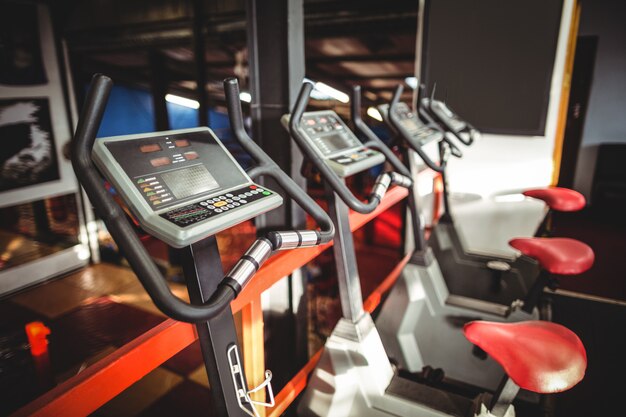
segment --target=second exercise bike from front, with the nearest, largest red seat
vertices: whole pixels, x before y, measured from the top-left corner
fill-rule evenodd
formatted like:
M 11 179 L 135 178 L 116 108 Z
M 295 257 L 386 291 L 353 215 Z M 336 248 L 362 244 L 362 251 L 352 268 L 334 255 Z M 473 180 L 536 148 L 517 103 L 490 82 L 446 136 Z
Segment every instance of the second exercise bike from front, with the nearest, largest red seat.
M 282 121 L 310 164 L 303 172 L 319 174 L 327 190 L 336 229 L 333 251 L 343 317 L 326 341 L 299 403 L 299 415 L 501 417 L 513 415 L 511 402 L 519 387 L 543 393 L 575 385 L 586 367 L 582 343 L 563 326 L 535 321 L 514 324 L 472 321 L 465 323 L 463 331 L 456 329 L 461 339 L 465 333 L 471 343 L 484 349 L 506 369 L 507 376 L 502 378 L 493 396 L 481 394 L 470 399 L 394 373 L 378 330 L 363 310 L 348 214 L 349 208 L 360 213 L 374 210 L 392 184 L 409 189 L 409 205 L 413 206 L 410 173 L 378 138 L 372 135 L 361 142 L 335 112 L 305 112 L 312 90 L 311 83 L 303 84 L 292 113 Z M 367 202 L 359 200 L 346 186 L 345 177 L 378 165 L 384 159 L 395 172 L 379 175 Z M 423 239 L 419 216 L 413 216 L 412 227 L 418 248 L 411 262 L 418 273 L 432 273 L 438 267 L 425 244 L 419 243 Z M 424 304 L 422 311 L 415 313 L 419 315 L 428 308 Z M 539 335 L 542 332 L 544 336 Z M 470 342 L 466 343 L 471 346 Z M 562 354 L 556 354 L 557 351 Z M 567 377 L 564 379 L 563 375 Z M 537 384 L 539 381 L 542 383 Z

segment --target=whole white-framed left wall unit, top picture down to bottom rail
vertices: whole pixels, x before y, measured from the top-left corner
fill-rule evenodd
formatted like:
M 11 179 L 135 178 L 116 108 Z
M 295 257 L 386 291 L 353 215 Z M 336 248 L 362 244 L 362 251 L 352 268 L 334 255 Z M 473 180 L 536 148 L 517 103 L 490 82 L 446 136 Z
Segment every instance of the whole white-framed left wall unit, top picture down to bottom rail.
M 84 266 L 94 249 L 64 152 L 77 112 L 59 45 L 45 4 L 0 2 L 0 294 Z

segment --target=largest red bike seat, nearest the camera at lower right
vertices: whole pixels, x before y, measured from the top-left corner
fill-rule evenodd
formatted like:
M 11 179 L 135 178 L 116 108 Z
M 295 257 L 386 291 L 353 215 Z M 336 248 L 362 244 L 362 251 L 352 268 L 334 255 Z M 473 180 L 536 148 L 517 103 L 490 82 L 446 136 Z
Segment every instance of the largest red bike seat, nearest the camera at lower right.
M 560 324 L 472 321 L 463 332 L 523 389 L 540 394 L 566 391 L 585 375 L 585 347 L 574 332 Z

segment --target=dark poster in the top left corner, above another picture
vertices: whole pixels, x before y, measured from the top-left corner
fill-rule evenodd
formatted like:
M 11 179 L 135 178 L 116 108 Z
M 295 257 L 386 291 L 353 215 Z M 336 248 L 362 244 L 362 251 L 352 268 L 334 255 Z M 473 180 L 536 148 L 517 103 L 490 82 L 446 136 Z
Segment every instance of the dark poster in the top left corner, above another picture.
M 0 84 L 37 85 L 48 79 L 39 44 L 36 4 L 0 4 Z

